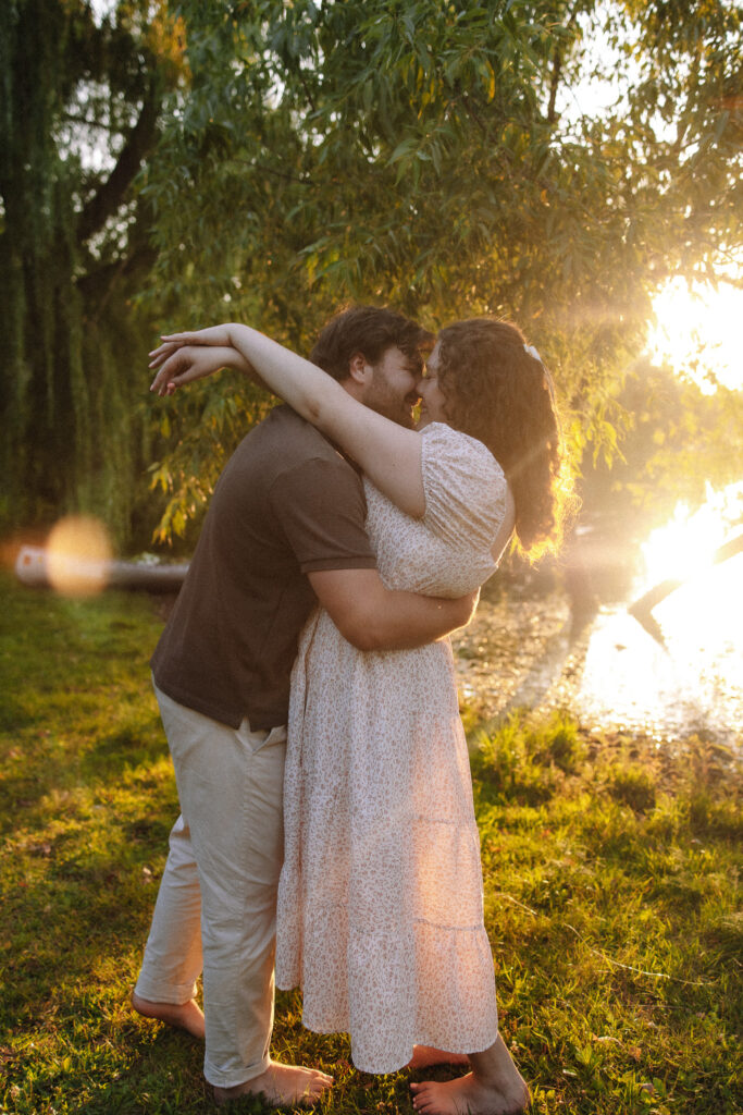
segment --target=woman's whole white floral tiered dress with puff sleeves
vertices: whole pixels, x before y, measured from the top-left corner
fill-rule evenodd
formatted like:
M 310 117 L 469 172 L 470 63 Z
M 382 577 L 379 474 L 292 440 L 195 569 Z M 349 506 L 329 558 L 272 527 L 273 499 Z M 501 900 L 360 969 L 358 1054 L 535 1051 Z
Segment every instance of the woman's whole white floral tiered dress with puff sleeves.
M 422 432 L 426 515 L 365 483 L 391 589 L 459 597 L 496 565 L 507 485 L 489 450 Z M 303 1022 L 351 1035 L 354 1065 L 391 1073 L 414 1043 L 453 1053 L 498 1035 L 480 842 L 448 639 L 356 650 L 321 609 L 292 675 L 276 982 Z

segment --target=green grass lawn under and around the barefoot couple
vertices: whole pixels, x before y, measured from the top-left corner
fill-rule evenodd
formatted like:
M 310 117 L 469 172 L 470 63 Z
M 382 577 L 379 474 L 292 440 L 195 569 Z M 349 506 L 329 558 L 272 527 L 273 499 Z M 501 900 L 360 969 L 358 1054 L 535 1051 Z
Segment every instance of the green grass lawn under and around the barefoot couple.
M 177 812 L 147 670 L 162 621 L 144 597 L 8 576 L 0 609 L 0 1109 L 216 1111 L 198 1044 L 128 1007 Z M 730 753 L 518 716 L 473 773 L 501 1029 L 535 1111 L 743 1112 Z M 408 1075 L 354 1072 L 296 993 L 274 1054 L 334 1074 L 329 1115 L 412 1112 Z

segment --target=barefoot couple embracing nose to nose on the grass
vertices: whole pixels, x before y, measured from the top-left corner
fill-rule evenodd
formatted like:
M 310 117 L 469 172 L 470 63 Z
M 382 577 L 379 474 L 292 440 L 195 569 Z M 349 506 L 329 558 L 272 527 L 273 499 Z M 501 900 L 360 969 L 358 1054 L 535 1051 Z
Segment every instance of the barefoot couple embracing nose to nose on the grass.
M 160 395 L 233 367 L 286 404 L 225 467 L 151 662 L 182 815 L 133 1004 L 205 1036 L 217 1102 L 332 1085 L 270 1057 L 275 962 L 358 1068 L 469 1069 L 412 1084 L 418 1111 L 529 1103 L 498 1032 L 446 637 L 514 533 L 527 554 L 557 536 L 560 439 L 516 327 L 433 341 L 355 307 L 309 361 L 239 324 L 151 353 Z

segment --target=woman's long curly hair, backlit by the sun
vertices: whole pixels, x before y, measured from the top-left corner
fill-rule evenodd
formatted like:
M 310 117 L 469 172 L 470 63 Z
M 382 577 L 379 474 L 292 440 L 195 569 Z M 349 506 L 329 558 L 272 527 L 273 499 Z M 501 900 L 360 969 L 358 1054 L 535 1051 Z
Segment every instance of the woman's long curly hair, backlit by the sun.
M 471 318 L 438 334 L 439 387 L 451 426 L 488 446 L 516 504 L 518 549 L 555 551 L 569 503 L 553 382 L 520 329 Z

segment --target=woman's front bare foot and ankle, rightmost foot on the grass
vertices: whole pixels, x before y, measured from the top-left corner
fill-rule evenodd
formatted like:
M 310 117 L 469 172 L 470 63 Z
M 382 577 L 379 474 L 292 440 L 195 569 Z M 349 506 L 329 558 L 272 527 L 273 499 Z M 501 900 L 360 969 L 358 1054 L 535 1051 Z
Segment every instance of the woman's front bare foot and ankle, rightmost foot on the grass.
M 485 1053 L 470 1054 L 472 1072 L 458 1080 L 411 1084 L 423 1115 L 516 1115 L 531 1103 L 526 1080 L 500 1035 Z

